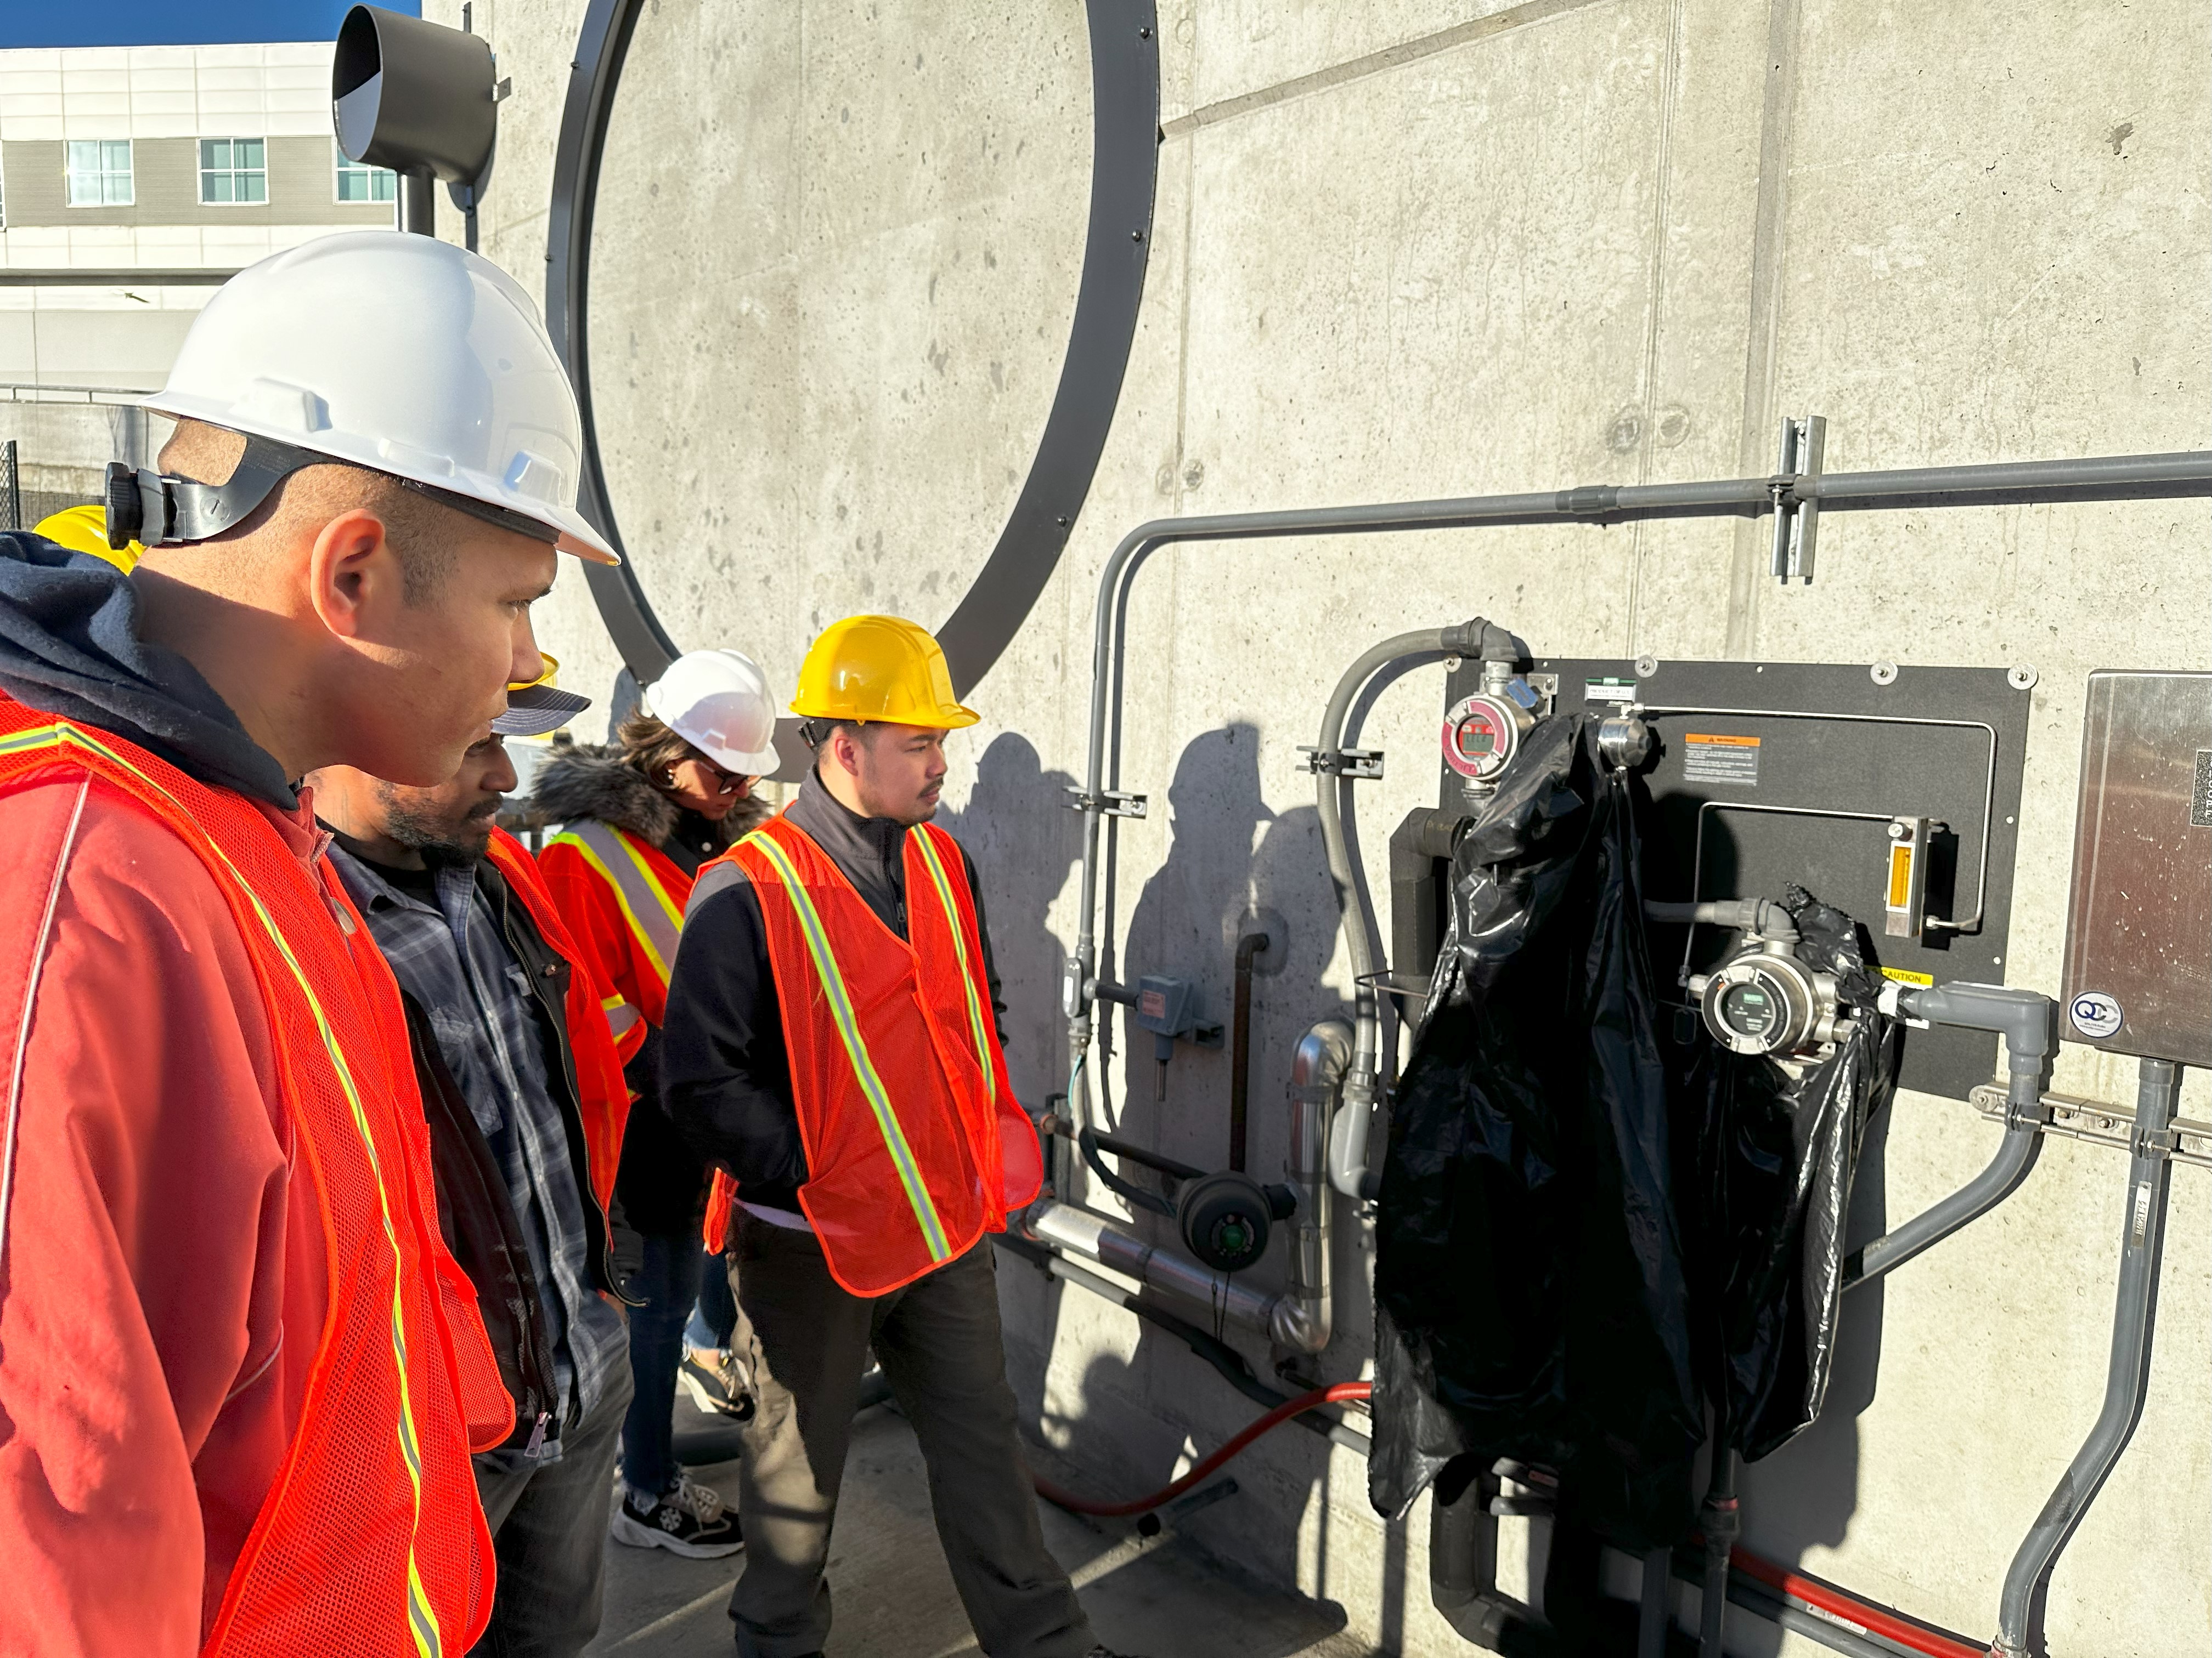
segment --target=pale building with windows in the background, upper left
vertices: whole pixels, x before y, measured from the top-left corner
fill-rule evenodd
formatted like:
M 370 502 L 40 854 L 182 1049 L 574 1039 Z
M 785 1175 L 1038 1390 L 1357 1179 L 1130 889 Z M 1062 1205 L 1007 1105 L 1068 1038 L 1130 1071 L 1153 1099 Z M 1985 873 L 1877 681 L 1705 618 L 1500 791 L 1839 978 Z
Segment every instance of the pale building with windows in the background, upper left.
M 0 440 L 27 522 L 137 458 L 117 393 L 161 385 L 223 276 L 394 221 L 394 177 L 332 137 L 330 53 L 0 51 Z

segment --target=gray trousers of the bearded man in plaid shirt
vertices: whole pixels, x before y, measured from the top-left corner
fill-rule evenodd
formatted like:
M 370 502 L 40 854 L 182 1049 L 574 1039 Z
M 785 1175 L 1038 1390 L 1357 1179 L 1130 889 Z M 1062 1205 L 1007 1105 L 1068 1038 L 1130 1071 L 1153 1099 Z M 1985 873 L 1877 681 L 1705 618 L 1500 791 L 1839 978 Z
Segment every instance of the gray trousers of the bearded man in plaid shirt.
M 500 1585 L 471 1654 L 575 1658 L 599 1634 L 615 1446 L 628 1408 L 624 1364 L 608 1377 L 606 1397 L 562 1435 L 560 1461 L 533 1463 L 511 1450 L 473 1459 Z

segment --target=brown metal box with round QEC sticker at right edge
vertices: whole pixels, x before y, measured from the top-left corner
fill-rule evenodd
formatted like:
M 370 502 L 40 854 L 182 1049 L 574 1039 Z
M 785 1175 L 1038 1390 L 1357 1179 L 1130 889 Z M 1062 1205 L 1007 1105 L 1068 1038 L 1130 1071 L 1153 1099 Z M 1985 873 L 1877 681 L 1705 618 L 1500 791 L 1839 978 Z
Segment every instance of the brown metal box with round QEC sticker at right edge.
M 2059 1035 L 2212 1066 L 2212 674 L 2088 676 Z

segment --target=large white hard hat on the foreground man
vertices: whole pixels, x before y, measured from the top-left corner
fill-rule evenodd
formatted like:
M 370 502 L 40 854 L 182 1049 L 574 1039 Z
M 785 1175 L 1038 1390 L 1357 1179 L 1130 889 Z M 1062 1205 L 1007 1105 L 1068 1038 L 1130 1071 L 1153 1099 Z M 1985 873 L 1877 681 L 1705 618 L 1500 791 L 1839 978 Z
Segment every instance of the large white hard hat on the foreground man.
M 248 265 L 144 407 L 515 513 L 564 553 L 619 562 L 575 511 L 584 427 L 538 307 L 431 237 L 354 230 Z

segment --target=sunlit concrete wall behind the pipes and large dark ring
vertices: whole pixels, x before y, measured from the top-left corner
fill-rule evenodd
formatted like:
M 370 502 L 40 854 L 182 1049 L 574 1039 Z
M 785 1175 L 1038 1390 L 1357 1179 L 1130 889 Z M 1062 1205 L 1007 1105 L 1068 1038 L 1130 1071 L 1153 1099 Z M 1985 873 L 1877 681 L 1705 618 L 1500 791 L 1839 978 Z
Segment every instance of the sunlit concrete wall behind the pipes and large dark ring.
M 484 248 L 531 287 L 580 18 L 580 0 L 476 7 L 515 80 Z M 1829 469 L 2205 447 L 2201 7 L 1164 0 L 1159 27 L 1152 265 L 1115 433 L 960 747 L 975 783 L 958 827 L 991 882 L 1031 1096 L 1064 1063 L 1075 820 L 1057 785 L 1082 765 L 1095 573 L 1130 524 L 1763 473 L 1783 413 L 1827 416 Z M 626 88 L 593 374 L 661 619 L 783 683 L 845 610 L 940 621 L 1057 378 L 1088 170 L 1079 9 L 650 0 Z M 2055 990 L 2084 676 L 2212 665 L 2205 531 L 2194 502 L 1834 517 L 1818 584 L 1792 590 L 1763 577 L 1763 524 L 1161 555 L 1130 608 L 1124 783 L 1155 809 L 1119 833 L 1119 966 L 1197 975 L 1225 1008 L 1239 920 L 1281 920 L 1252 1092 L 1254 1167 L 1272 1169 L 1290 1046 L 1347 997 L 1294 747 L 1360 646 L 1482 612 L 1553 654 L 2033 663 L 2002 973 Z M 566 683 L 606 685 L 573 573 L 544 610 Z M 1369 825 L 1431 796 L 1438 694 L 1416 674 L 1369 718 L 1391 752 Z M 1115 1077 L 1128 1130 L 1217 1161 L 1225 1063 L 1177 1059 L 1166 1108 L 1148 1072 Z M 2084 1050 L 2057 1085 L 2132 1099 L 2126 1061 Z M 2201 1085 L 2185 1108 L 2205 1114 Z M 1905 1096 L 1869 1189 L 1902 1218 L 1991 1145 L 1969 1108 Z M 2115 1152 L 2057 1141 L 2017 1200 L 1851 1309 L 1827 1417 L 1747 1475 L 1754 1547 L 1993 1629 L 2004 1565 L 2101 1393 L 2121 1174 Z M 1367 1340 L 1345 1234 L 1329 1377 Z M 2183 1169 L 2152 1395 L 2057 1574 L 2059 1654 L 2212 1640 L 2208 1236 L 2205 1176 Z M 1075 1291 L 1009 1273 L 1006 1307 L 1042 1433 L 1102 1490 L 1144 1488 L 1248 1415 Z M 1283 1433 L 1194 1528 L 1340 1603 L 1385 1651 L 1455 1651 L 1427 1607 L 1422 1510 L 1383 1528 L 1363 1475 Z M 1745 1654 L 1809 1651 L 1739 1627 Z

